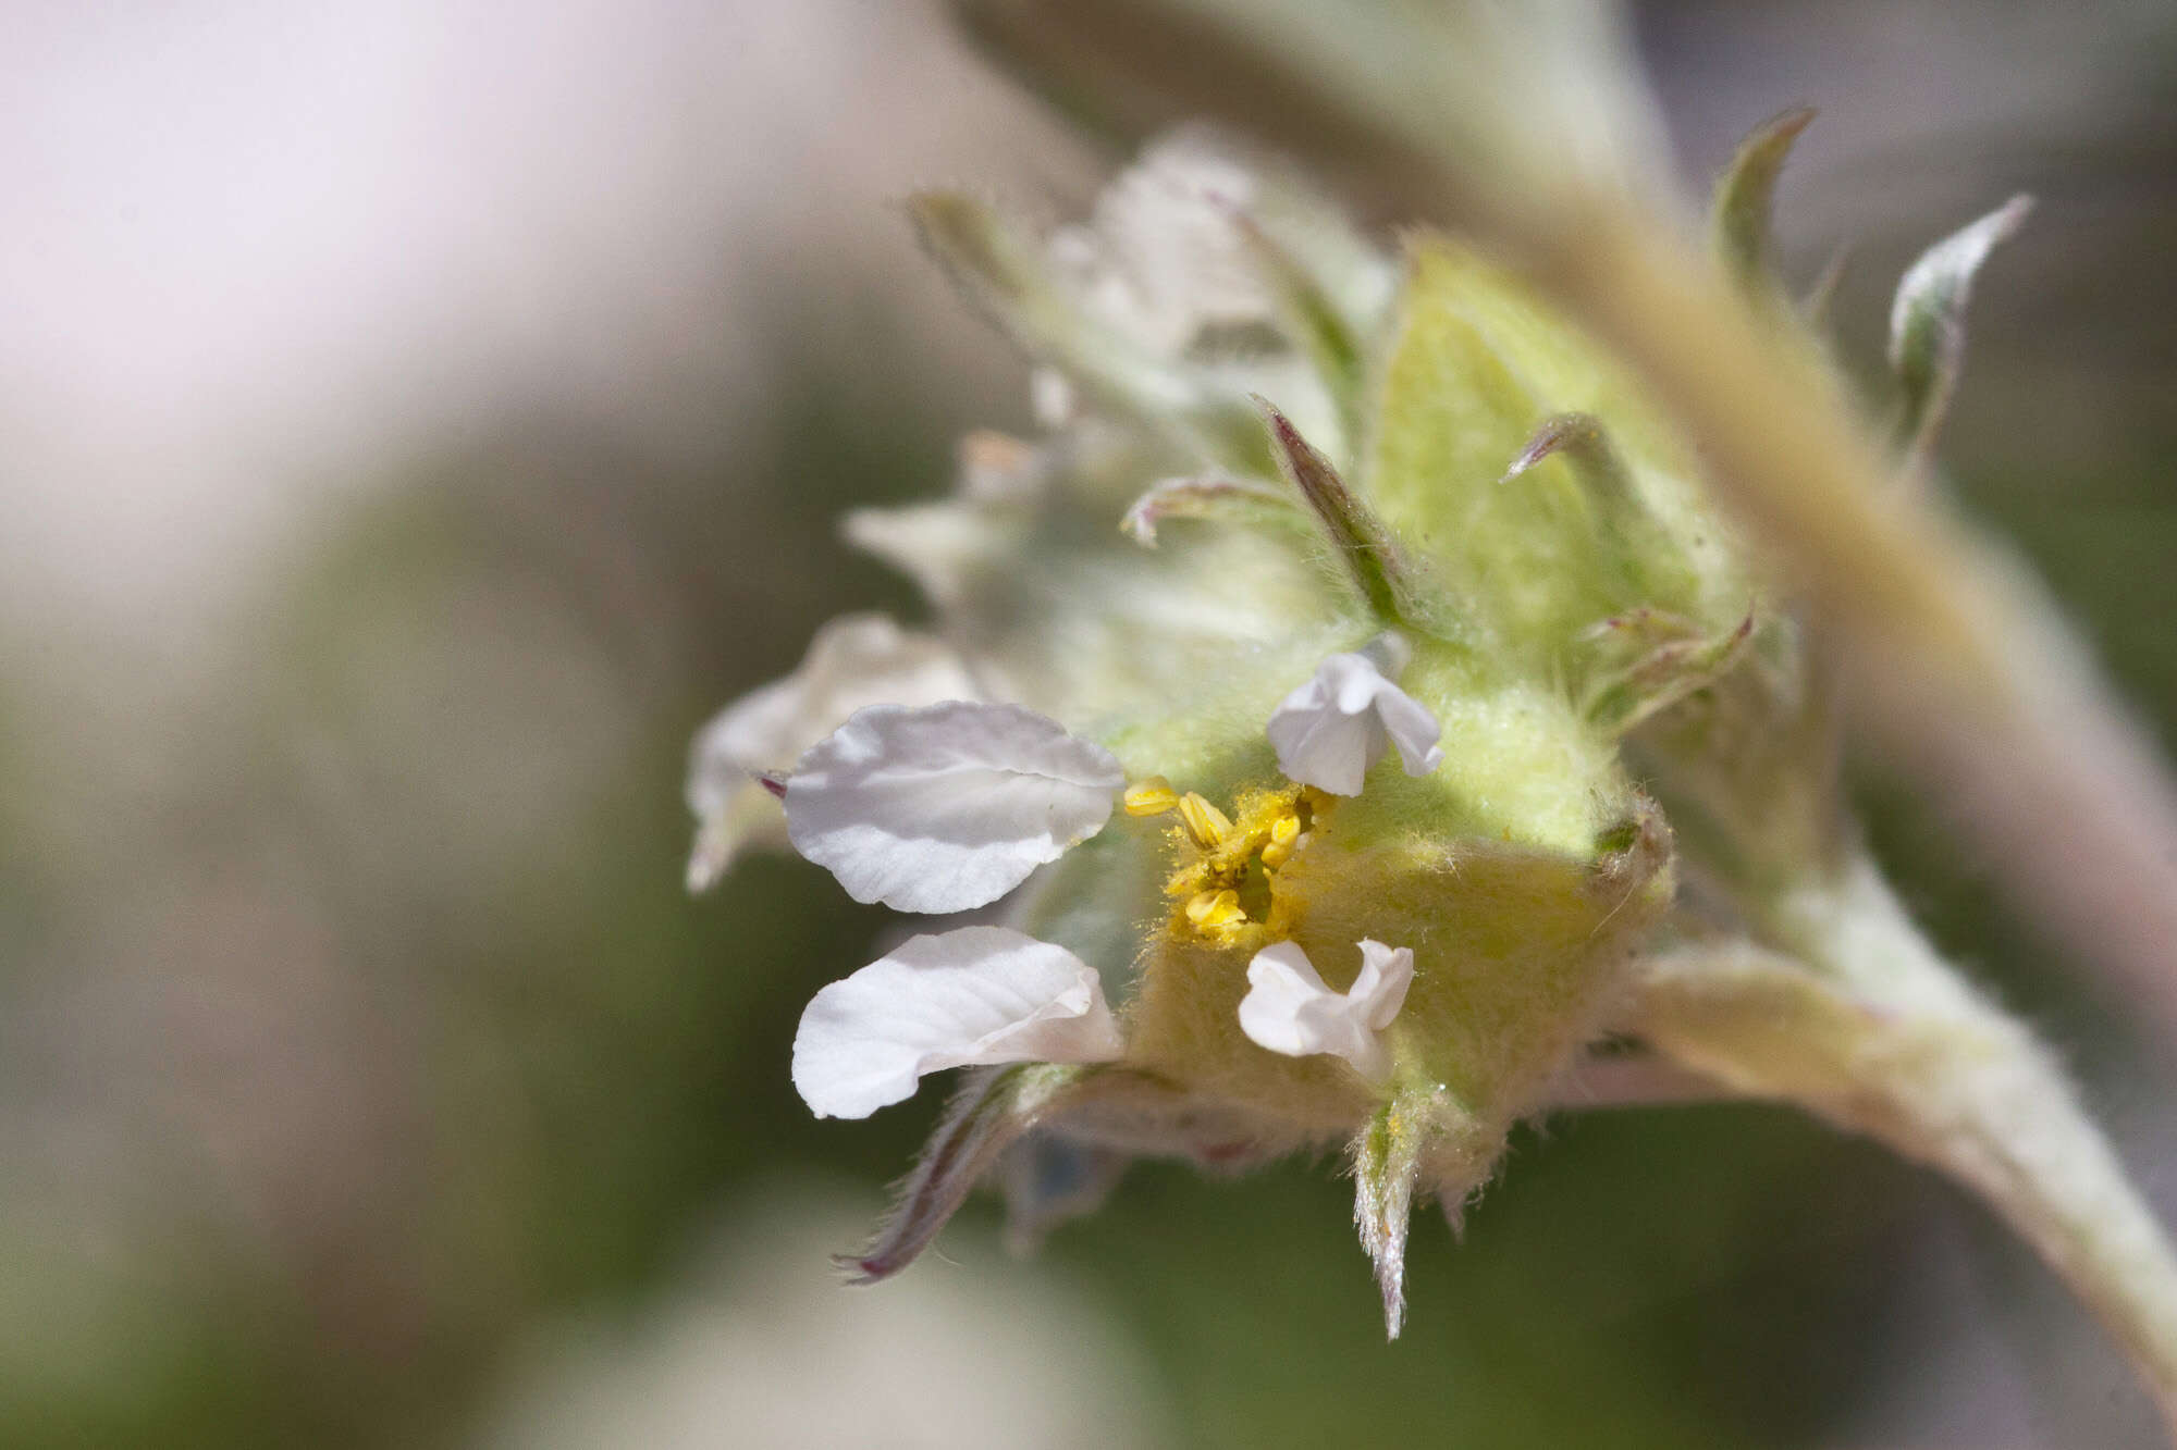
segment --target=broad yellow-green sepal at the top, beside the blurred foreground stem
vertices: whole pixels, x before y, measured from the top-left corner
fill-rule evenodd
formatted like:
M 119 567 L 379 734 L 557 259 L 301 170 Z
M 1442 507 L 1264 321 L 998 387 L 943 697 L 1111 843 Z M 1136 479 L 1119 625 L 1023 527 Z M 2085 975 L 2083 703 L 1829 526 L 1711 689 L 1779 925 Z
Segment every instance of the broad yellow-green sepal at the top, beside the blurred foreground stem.
M 1493 677 L 1559 673 L 1622 610 L 1718 631 L 1746 612 L 1733 531 L 1670 429 L 1604 351 L 1443 237 L 1409 242 L 1361 481 Z

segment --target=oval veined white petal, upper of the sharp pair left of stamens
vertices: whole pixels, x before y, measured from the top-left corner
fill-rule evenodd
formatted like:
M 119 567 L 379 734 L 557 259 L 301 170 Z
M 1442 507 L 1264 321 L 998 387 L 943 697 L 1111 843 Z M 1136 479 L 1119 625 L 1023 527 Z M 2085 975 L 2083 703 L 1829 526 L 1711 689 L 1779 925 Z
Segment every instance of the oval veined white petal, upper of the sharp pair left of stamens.
M 856 901 L 986 906 L 1110 819 L 1126 771 L 1019 705 L 871 705 L 786 782 L 795 849 Z

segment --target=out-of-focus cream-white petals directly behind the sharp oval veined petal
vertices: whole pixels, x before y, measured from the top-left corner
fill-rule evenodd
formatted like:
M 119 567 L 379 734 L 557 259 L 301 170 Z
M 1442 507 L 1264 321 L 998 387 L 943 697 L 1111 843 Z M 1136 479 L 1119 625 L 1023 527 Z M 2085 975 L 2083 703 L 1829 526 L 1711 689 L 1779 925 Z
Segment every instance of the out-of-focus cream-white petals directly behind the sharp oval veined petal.
M 721 710 L 688 751 L 688 810 L 697 819 L 688 890 L 712 886 L 751 845 L 786 847 L 786 816 L 755 777 L 784 771 L 840 721 L 890 701 L 927 705 L 977 695 L 938 638 L 884 614 L 842 614 L 810 640 L 801 666 Z

